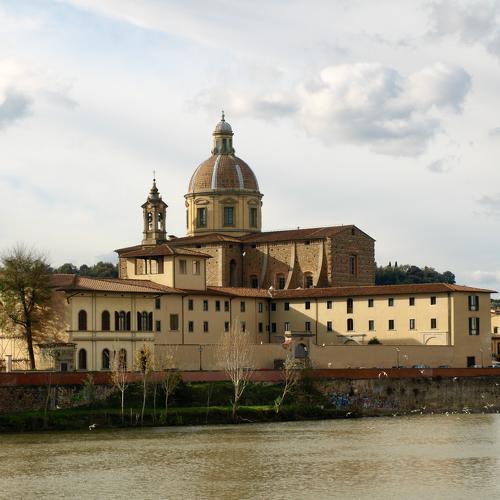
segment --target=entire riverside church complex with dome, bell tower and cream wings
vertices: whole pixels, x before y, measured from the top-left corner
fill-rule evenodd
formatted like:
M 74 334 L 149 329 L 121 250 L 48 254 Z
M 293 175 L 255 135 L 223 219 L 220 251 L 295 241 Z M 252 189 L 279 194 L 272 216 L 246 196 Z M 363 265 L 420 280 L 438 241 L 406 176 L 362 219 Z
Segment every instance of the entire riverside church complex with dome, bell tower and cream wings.
M 109 370 L 119 355 L 134 369 L 148 347 L 174 353 L 179 369 L 213 370 L 221 334 L 234 328 L 250 336 L 256 369 L 286 356 L 314 368 L 489 361 L 491 290 L 375 286 L 375 240 L 354 225 L 262 231 L 263 194 L 224 115 L 212 136 L 185 195 L 186 236 L 168 235 L 153 179 L 142 240 L 116 250 L 118 278 L 52 277 L 65 321 L 57 343 L 38 346 L 43 366 Z M 0 337 L 4 366 L 23 369 L 21 352 Z

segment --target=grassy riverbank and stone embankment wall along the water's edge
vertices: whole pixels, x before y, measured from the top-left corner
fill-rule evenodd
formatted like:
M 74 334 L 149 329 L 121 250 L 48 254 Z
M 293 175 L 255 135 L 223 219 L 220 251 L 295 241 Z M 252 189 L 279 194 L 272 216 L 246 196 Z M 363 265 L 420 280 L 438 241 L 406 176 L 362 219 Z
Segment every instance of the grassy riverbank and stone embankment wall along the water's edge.
M 142 384 L 131 383 L 125 391 L 123 419 L 121 394 L 109 385 L 95 384 L 92 377 L 83 385 L 2 390 L 8 397 L 1 398 L 0 432 L 83 430 L 93 424 L 117 428 L 500 411 L 500 377 L 326 379 L 304 374 L 278 412 L 275 402 L 282 395 L 283 384 L 251 382 L 236 419 L 230 405 L 233 387 L 228 381 L 180 382 L 169 397 L 166 414 L 161 385 L 151 381 L 143 418 Z M 16 407 L 22 401 L 19 395 L 36 404 Z M 10 410 L 8 401 L 14 402 Z

